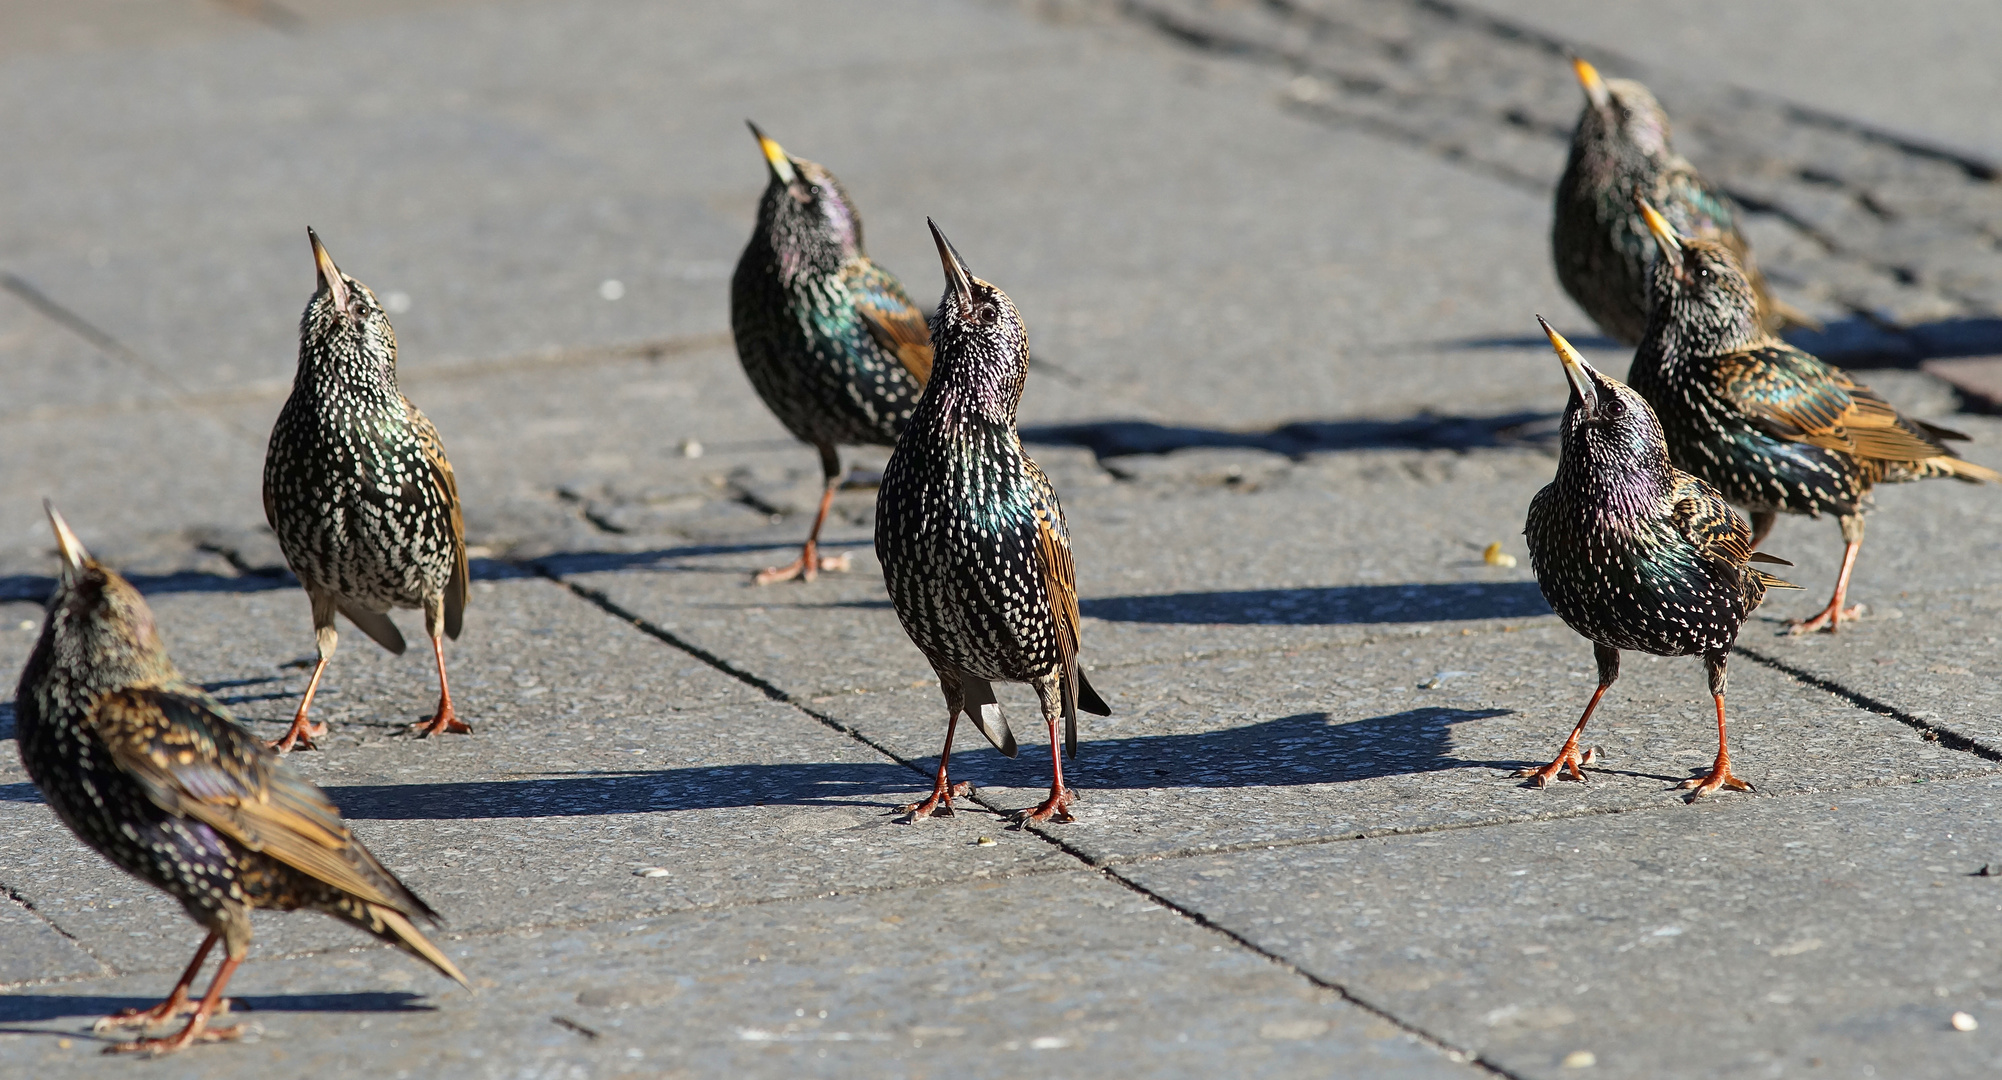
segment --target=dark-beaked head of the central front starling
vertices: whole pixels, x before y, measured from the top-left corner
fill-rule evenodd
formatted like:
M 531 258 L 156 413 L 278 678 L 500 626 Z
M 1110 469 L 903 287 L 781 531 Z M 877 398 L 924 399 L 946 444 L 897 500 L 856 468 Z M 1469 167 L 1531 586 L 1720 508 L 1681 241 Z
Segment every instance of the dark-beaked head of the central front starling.
M 1015 301 L 967 271 L 959 250 L 939 224 L 931 240 L 939 244 L 939 264 L 945 268 L 945 295 L 931 321 L 931 347 L 937 361 L 931 381 L 947 381 L 973 393 L 973 401 L 989 419 L 1015 423 L 1021 389 L 1029 377 L 1029 327 L 1023 325 Z

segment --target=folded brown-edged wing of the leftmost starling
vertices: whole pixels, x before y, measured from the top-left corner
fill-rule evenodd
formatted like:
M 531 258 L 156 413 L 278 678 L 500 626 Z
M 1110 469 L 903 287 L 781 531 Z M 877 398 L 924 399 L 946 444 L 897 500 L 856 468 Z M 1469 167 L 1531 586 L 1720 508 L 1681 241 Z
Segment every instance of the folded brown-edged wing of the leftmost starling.
M 146 797 L 310 878 L 404 914 L 432 916 L 362 848 L 312 781 L 206 695 L 132 687 L 104 695 L 90 729 Z

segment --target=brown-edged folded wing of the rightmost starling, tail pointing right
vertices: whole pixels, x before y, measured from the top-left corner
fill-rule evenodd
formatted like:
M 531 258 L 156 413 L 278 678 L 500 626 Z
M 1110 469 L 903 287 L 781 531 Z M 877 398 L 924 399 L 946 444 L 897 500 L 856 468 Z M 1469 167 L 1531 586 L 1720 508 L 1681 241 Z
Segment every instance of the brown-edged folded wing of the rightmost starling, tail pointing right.
M 1946 455 L 1876 391 L 1800 349 L 1770 343 L 1718 363 L 1724 397 L 1768 435 L 1872 461 Z

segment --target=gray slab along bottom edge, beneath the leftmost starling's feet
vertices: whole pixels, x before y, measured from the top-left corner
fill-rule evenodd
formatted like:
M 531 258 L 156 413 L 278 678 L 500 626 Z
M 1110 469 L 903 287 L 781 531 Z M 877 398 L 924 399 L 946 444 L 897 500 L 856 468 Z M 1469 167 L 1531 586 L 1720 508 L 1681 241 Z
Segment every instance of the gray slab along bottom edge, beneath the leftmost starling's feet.
M 388 950 L 244 964 L 230 988 L 258 1042 L 148 1074 L 1479 1074 L 1079 872 L 472 936 L 452 952 L 478 996 Z M 102 1074 L 88 1020 L 160 982 L 0 994 L 0 1062 Z

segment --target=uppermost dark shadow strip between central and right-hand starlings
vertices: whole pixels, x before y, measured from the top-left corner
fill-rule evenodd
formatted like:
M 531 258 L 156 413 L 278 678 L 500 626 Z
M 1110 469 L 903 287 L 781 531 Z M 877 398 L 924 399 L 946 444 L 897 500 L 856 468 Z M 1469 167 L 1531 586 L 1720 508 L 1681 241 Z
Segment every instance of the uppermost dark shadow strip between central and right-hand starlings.
M 1295 421 L 1267 431 L 1099 421 L 1021 429 L 1025 443 L 1085 447 L 1099 459 L 1185 449 L 1249 449 L 1285 457 L 1335 451 L 1473 451 L 1556 445 L 1558 413 L 1455 417 L 1421 413 L 1405 421 Z

